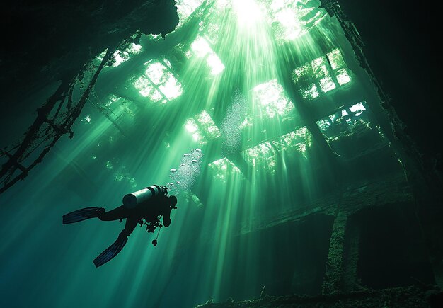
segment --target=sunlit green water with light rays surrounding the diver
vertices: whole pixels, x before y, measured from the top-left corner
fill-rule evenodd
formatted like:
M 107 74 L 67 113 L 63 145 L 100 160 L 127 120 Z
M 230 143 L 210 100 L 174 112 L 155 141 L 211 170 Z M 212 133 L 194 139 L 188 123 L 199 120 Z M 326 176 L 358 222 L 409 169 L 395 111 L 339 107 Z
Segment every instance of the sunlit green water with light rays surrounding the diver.
M 144 35 L 116 55 L 74 139 L 1 195 L 1 307 L 194 307 L 256 298 L 263 285 L 319 292 L 331 219 L 265 226 L 335 189 L 318 134 L 344 158 L 386 143 L 367 107 L 374 89 L 317 1 L 188 2 L 166 40 Z M 337 142 L 356 132 L 369 141 Z M 62 225 L 62 215 L 171 183 L 197 148 L 200 173 L 173 179 L 178 209 L 159 244 L 136 229 L 95 268 L 124 224 Z

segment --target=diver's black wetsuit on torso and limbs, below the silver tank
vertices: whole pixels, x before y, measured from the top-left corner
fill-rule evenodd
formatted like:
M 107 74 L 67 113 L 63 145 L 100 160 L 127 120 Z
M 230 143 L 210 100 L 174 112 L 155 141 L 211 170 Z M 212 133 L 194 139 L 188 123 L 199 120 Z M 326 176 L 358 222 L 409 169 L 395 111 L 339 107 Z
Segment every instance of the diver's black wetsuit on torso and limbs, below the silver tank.
M 125 229 L 122 230 L 122 235 L 130 236 L 140 219 L 146 219 L 146 222 L 154 222 L 159 215 L 163 215 L 163 225 L 168 227 L 171 224 L 171 207 L 166 195 L 159 195 L 156 198 L 146 200 L 132 209 L 121 205 L 109 212 L 100 213 L 98 219 L 110 221 L 126 218 Z

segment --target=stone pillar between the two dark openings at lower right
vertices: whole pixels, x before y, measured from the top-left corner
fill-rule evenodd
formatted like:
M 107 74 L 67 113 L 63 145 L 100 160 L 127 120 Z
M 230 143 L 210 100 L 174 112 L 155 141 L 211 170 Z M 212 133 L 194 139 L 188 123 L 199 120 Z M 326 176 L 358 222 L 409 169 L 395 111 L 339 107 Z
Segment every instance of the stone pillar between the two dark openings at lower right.
M 343 251 L 345 247 L 345 229 L 347 215 L 339 211 L 330 236 L 326 273 L 323 278 L 322 294 L 331 294 L 341 290 L 343 280 Z

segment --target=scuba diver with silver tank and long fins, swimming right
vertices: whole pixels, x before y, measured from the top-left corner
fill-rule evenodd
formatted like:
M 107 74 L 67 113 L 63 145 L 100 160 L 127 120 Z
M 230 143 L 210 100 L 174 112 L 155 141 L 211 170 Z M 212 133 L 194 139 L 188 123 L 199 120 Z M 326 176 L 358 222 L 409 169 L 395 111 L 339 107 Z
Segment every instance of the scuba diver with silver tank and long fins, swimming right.
M 93 261 L 98 268 L 117 256 L 117 253 L 125 246 L 127 236 L 131 235 L 137 224 L 146 225 L 146 232 L 154 232 L 156 227 L 162 227 L 160 219 L 163 218 L 163 225 L 169 227 L 171 210 L 177 208 L 177 198 L 173 195 L 170 196 L 167 189 L 166 186 L 154 185 L 127 194 L 123 197 L 123 205 L 109 212 L 106 212 L 103 207 L 86 207 L 70 212 L 63 215 L 63 224 L 72 224 L 90 218 L 98 218 L 103 221 L 120 220 L 120 222 L 122 219 L 126 219 L 125 229 L 120 232 L 114 244 L 100 253 Z M 154 239 L 152 244 L 156 246 L 157 239 Z

